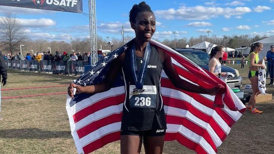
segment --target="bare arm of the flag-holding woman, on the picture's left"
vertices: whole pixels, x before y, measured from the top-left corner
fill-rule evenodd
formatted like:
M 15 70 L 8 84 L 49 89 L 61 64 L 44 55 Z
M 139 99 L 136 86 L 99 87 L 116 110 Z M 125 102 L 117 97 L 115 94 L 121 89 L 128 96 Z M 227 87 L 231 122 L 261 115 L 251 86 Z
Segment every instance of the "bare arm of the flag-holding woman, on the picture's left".
M 72 82 L 68 87 L 68 95 L 73 98 L 73 88 L 76 88 L 76 93 L 88 93 L 88 94 L 96 94 L 100 92 L 108 91 L 112 84 L 114 83 L 114 79 L 117 76 L 117 73 L 121 69 L 125 54 L 122 53 L 116 60 L 110 64 L 110 68 L 108 74 L 106 76 L 106 80 L 101 82 L 100 84 L 95 84 L 91 86 L 80 86 Z

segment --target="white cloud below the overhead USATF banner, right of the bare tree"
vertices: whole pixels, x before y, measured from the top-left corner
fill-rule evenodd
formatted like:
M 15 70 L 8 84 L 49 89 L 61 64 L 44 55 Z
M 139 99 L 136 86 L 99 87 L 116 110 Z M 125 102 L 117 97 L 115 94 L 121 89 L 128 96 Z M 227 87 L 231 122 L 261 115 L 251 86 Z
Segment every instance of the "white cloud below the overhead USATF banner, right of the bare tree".
M 18 19 L 23 27 L 48 27 L 54 26 L 56 24 L 55 21 L 51 19 Z

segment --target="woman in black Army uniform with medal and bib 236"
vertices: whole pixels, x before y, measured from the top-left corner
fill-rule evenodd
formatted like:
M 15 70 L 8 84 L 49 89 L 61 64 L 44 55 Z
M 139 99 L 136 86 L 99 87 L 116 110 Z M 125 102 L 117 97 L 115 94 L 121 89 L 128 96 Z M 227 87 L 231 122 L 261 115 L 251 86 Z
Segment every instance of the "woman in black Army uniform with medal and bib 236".
M 73 97 L 73 88 L 77 89 L 77 93 L 107 91 L 122 68 L 126 81 L 126 103 L 121 123 L 121 153 L 140 153 L 144 142 L 146 153 L 160 154 L 167 129 L 160 94 L 162 69 L 177 88 L 210 95 L 216 94 L 218 88 L 205 89 L 182 80 L 173 67 L 171 57 L 150 45 L 149 41 L 156 30 L 156 19 L 145 2 L 132 7 L 129 21 L 135 38 L 128 49 L 112 62 L 107 79 L 100 84 L 84 87 L 72 83 L 68 94 Z

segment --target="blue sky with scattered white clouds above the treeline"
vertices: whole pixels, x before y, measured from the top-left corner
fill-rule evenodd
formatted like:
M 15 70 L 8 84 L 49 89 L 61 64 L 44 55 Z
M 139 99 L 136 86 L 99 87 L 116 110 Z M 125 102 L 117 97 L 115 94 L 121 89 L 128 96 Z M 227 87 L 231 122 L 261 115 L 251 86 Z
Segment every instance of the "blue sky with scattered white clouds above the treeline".
M 134 36 L 130 29 L 128 13 L 141 1 L 97 0 L 97 34 L 103 38 L 121 38 L 124 34 Z M 274 0 L 147 0 L 156 16 L 154 38 L 173 39 L 210 35 L 273 35 Z M 88 17 L 80 13 L 48 11 L 19 7 L 0 6 L 3 13 L 15 14 L 27 35 L 32 39 L 65 40 L 70 37 L 89 38 Z M 88 13 L 88 0 L 83 0 L 83 12 Z

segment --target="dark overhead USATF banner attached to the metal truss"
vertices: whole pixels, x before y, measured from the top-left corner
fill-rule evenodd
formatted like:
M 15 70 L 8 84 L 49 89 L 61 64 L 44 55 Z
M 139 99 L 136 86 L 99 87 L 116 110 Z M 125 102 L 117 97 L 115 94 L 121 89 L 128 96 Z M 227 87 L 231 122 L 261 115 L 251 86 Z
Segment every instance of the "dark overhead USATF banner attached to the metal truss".
M 82 12 L 82 0 L 0 0 L 0 5 L 66 12 Z

